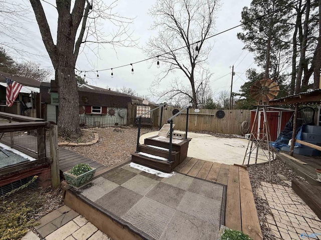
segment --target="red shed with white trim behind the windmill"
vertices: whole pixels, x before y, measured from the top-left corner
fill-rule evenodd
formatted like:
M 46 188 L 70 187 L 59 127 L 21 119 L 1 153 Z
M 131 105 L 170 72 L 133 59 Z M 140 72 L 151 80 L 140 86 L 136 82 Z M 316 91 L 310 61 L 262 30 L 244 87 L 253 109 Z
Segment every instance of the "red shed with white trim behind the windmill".
M 251 126 L 254 121 L 256 109 L 251 110 Z M 280 107 L 266 107 L 266 115 L 268 119 L 268 124 L 270 127 L 271 140 L 275 141 L 280 132 L 283 130 L 286 122 L 293 115 L 294 110 L 288 108 L 280 108 Z M 263 109 L 259 109 L 259 117 L 258 117 L 258 129 L 257 132 L 263 132 Z M 254 129 L 254 131 L 256 131 Z

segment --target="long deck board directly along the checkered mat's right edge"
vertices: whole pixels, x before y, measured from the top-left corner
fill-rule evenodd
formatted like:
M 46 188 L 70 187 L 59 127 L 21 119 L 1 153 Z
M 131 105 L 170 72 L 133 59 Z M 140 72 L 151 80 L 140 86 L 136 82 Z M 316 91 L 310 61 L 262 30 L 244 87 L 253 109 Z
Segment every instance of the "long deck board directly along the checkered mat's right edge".
M 242 230 L 238 166 L 230 166 L 225 209 L 225 225 L 231 229 Z

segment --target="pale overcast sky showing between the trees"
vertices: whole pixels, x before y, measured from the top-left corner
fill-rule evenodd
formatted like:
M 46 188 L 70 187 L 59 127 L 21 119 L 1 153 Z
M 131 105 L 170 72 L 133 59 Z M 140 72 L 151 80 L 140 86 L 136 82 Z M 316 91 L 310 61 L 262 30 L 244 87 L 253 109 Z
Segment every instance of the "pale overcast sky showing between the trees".
M 17 0 L 20 1 L 20 0 Z M 104 0 L 106 3 L 107 1 Z M 30 6 L 28 0 L 24 0 L 26 5 Z M 52 4 L 55 4 L 54 0 L 48 0 Z M 134 18 L 133 22 L 129 25 L 130 31 L 132 31 L 132 38 L 137 40 L 137 47 L 115 47 L 109 44 L 99 45 L 99 55 L 94 54 L 92 51 L 85 49 L 77 60 L 76 67 L 83 71 L 85 70 L 99 70 L 105 68 L 116 67 L 120 65 L 129 64 L 143 60 L 146 55 L 140 49 L 145 46 L 148 38 L 155 34 L 150 30 L 152 18 L 148 14 L 148 9 L 151 8 L 154 0 L 118 0 L 117 5 L 113 8 L 115 12 L 118 12 L 121 16 Z M 215 32 L 221 32 L 228 28 L 234 27 L 240 24 L 241 11 L 244 6 L 249 6 L 251 0 L 225 0 L 220 1 L 220 8 L 217 12 Z M 57 13 L 56 9 L 42 1 L 47 19 L 51 28 L 53 38 L 56 37 L 57 29 Z M 51 60 L 48 56 L 44 43 L 42 41 L 39 27 L 33 15 L 32 8 L 30 8 L 30 19 L 28 23 L 24 23 L 23 29 L 19 34 L 28 36 L 28 40 L 25 41 L 24 49 L 34 54 L 41 54 L 44 57 L 35 56 L 33 54 L 21 57 L 14 54 L 14 59 L 17 61 L 31 60 L 39 63 L 41 67 L 52 67 Z M 113 26 L 108 22 L 103 22 L 103 31 L 108 33 L 113 30 Z M 233 92 L 237 92 L 240 86 L 244 84 L 246 77 L 245 71 L 249 67 L 257 67 L 253 60 L 253 55 L 247 50 L 243 50 L 243 42 L 237 39 L 237 32 L 242 31 L 241 27 L 229 30 L 218 36 L 212 37 L 209 41 L 214 44 L 214 47 L 208 58 L 208 67 L 213 74 L 211 78 L 211 88 L 214 93 L 227 90 L 230 91 L 231 86 L 231 66 L 234 64 L 234 79 L 233 79 Z M 18 34 L 18 33 L 17 33 Z M 55 42 L 55 40 L 54 40 Z M 122 86 L 130 87 L 135 90 L 138 95 L 148 96 L 151 100 L 157 101 L 157 98 L 150 95 L 148 87 L 150 83 L 155 79 L 156 74 L 162 69 L 156 68 L 155 62 L 143 61 L 133 65 L 134 74 L 131 74 L 131 67 L 125 66 L 113 70 L 114 77 L 111 78 L 111 71 L 98 71 L 99 78 L 96 77 L 96 72 L 87 72 L 86 80 L 89 84 L 99 87 L 120 88 Z M 159 89 L 165 89 L 169 82 L 175 78 L 177 73 L 171 73 L 162 81 L 159 85 Z M 81 73 L 83 76 L 83 73 Z M 184 79 L 184 83 L 190 84 L 188 79 Z M 215 96 L 214 96 L 215 98 Z

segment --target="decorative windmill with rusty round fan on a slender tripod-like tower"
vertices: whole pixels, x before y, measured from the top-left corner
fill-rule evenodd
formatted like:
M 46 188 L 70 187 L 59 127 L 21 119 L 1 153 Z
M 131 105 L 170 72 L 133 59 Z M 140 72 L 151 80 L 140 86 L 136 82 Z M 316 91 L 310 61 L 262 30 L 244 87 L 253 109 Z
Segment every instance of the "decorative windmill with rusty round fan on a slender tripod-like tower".
M 247 165 L 249 165 L 251 158 L 255 158 L 255 164 L 256 164 L 257 159 L 262 159 L 262 158 L 258 158 L 259 156 L 266 157 L 269 161 L 269 166 L 270 166 L 270 180 L 271 180 L 271 160 L 274 159 L 274 154 L 273 154 L 273 151 L 270 151 L 271 134 L 270 134 L 270 128 L 267 122 L 266 106 L 268 106 L 269 100 L 277 96 L 277 94 L 279 93 L 279 90 L 280 90 L 280 87 L 278 86 L 278 84 L 271 79 L 263 79 L 260 81 L 256 81 L 251 86 L 250 95 L 258 101 L 258 104 L 256 107 L 254 121 L 252 123 L 249 142 L 247 144 L 246 152 L 242 163 L 244 164 L 246 157 L 248 157 Z M 263 117 L 264 117 L 262 132 L 258 131 L 258 118 L 259 118 L 260 107 L 263 109 Z M 265 144 L 265 141 L 267 143 L 267 146 Z M 260 152 L 262 153 L 259 153 L 259 147 L 261 148 Z M 266 147 L 267 147 L 267 152 L 265 150 Z M 249 148 L 250 150 L 248 151 Z M 254 150 L 256 150 L 256 152 L 255 152 L 255 156 L 253 157 L 251 156 L 251 153 Z

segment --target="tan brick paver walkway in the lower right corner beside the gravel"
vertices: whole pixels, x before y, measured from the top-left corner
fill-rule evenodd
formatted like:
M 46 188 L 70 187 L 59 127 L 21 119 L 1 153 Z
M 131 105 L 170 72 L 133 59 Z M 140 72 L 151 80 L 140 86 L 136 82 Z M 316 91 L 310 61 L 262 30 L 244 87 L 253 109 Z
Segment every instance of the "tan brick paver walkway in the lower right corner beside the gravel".
M 321 239 L 321 220 L 291 187 L 261 182 L 258 194 L 267 200 L 272 215 L 267 226 L 276 239 Z

